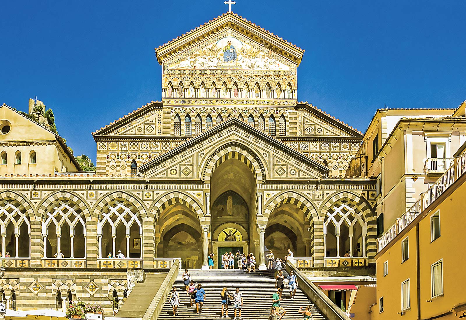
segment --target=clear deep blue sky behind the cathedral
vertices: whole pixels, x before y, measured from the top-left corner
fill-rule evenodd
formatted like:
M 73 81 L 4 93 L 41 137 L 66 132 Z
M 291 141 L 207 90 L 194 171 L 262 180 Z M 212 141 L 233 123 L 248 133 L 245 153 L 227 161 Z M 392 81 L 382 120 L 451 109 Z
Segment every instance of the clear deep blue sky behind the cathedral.
M 365 131 L 377 108 L 466 99 L 466 2 L 236 0 L 233 12 L 306 50 L 298 100 Z M 161 99 L 154 48 L 227 11 L 223 0 L 2 1 L 0 104 L 37 95 L 75 155 L 91 132 Z

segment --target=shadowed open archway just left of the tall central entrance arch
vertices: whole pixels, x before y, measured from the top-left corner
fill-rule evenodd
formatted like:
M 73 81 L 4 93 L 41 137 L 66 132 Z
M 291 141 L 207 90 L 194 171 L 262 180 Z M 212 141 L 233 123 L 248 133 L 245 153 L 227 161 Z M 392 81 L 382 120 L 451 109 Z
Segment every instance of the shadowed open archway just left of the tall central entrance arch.
M 199 269 L 202 266 L 202 241 L 199 216 L 184 202 L 162 204 L 156 224 L 160 239 L 158 258 L 181 258 L 182 268 Z

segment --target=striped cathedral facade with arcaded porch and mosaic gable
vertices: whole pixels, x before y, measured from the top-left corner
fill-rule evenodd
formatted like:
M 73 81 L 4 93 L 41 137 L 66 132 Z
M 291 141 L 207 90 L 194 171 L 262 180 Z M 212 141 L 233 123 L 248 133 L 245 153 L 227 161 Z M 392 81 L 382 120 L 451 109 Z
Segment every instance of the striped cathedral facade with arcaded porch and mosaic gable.
M 95 174 L 0 178 L 9 306 L 111 310 L 131 269 L 208 269 L 209 253 L 253 252 L 259 269 L 288 248 L 298 266 L 375 262 L 376 182 L 346 177 L 362 134 L 297 101 L 304 50 L 227 13 L 155 53 L 162 99 L 92 133 Z M 3 149 L 38 143 L 8 134 Z

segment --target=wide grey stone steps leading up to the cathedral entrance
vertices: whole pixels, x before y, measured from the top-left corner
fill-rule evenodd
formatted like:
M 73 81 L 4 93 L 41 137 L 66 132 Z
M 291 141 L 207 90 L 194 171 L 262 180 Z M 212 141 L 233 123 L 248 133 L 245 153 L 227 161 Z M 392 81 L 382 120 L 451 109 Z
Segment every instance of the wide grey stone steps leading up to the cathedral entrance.
M 256 271 L 246 273 L 241 270 L 210 270 L 190 271 L 194 283 L 202 284 L 206 291 L 206 300 L 202 313 L 196 314 L 196 307 L 189 307 L 189 298 L 186 296 L 183 283 L 183 272 L 178 273 L 175 281 L 178 291 L 180 291 L 180 306 L 178 306 L 178 316 L 173 317 L 170 297 L 165 301 L 162 313 L 158 319 L 219 319 L 221 317 L 220 293 L 223 286 L 228 288 L 229 293 L 235 292 L 235 287 L 239 286 L 243 293 L 243 308 L 241 317 L 249 320 L 267 320 L 270 307 L 272 306 L 272 294 L 276 292 L 274 270 Z M 299 284 L 299 283 L 298 283 Z M 295 299 L 291 300 L 288 288 L 283 290 L 281 306 L 287 313 L 283 319 L 302 319 L 302 315 L 297 312 L 301 306 L 312 306 L 314 320 L 326 320 L 314 304 L 298 288 Z M 228 307 L 228 317 L 233 319 L 233 306 Z

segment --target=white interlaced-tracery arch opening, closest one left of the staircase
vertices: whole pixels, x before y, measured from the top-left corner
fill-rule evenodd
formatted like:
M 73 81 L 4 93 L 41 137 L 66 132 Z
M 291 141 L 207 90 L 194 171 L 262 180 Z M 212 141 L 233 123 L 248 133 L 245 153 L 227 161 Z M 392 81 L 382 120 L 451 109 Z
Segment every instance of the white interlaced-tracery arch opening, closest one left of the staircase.
M 127 259 L 140 259 L 143 254 L 142 219 L 134 204 L 117 198 L 108 202 L 97 221 L 99 258 L 119 251 Z

